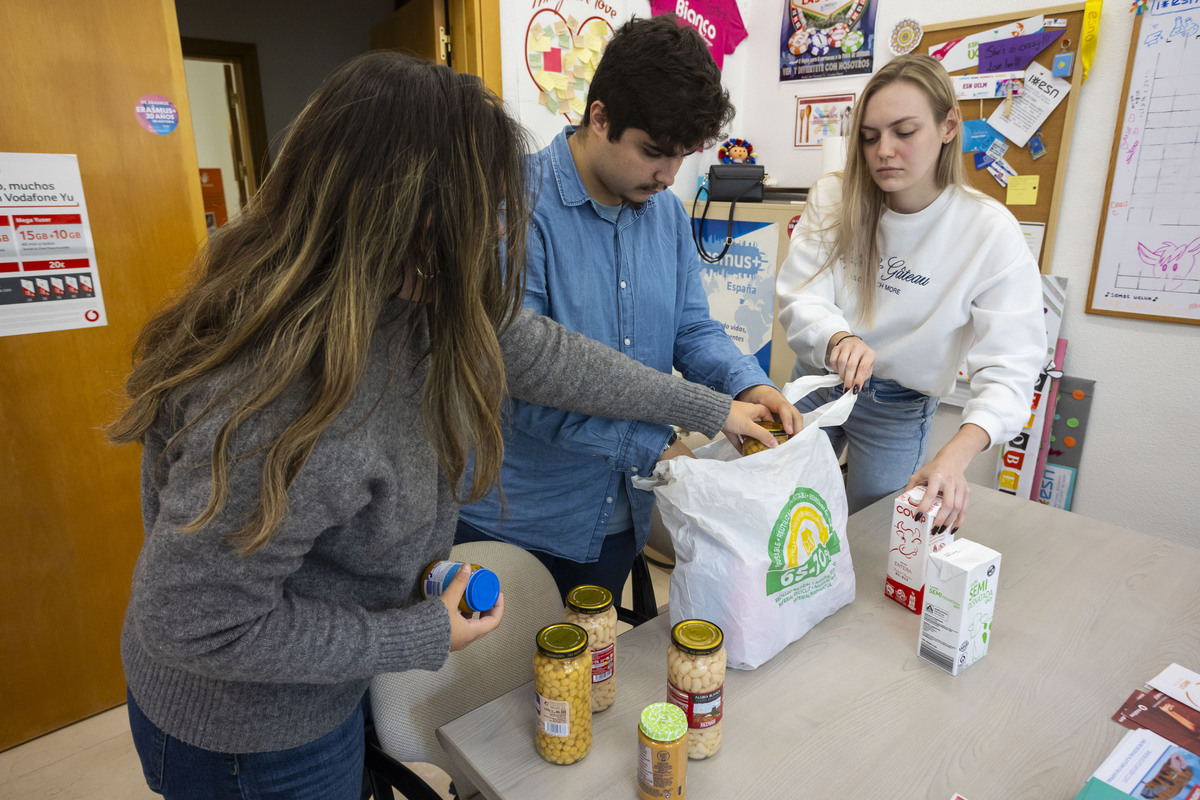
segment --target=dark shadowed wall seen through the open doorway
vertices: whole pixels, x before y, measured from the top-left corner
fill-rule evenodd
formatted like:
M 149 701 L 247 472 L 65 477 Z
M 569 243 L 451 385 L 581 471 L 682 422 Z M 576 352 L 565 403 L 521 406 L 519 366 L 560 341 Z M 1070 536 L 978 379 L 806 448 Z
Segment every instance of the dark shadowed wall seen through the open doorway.
M 272 160 L 308 96 L 371 48 L 371 28 L 395 7 L 394 0 L 175 0 L 181 36 L 257 46 Z

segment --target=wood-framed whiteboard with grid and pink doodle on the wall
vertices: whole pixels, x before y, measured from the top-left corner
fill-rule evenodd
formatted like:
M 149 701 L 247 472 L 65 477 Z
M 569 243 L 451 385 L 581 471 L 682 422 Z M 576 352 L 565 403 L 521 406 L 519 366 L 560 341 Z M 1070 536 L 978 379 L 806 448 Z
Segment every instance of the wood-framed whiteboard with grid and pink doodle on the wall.
M 1189 4 L 1196 7 L 1196 2 Z M 1200 325 L 1200 17 L 1134 22 L 1087 312 Z

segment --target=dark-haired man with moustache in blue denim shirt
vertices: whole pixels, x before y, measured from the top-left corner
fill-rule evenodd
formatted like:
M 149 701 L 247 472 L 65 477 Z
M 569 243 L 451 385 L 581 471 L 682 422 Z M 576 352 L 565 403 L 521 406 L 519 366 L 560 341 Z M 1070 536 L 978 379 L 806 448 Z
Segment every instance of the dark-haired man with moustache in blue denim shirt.
M 662 372 L 800 415 L 712 319 L 691 218 L 665 192 L 683 157 L 733 116 L 702 38 L 674 16 L 617 31 L 582 126 L 530 157 L 539 191 L 527 243 L 526 306 Z M 498 492 L 462 509 L 457 542 L 533 552 L 565 594 L 620 590 L 649 536 L 654 495 L 632 488 L 660 458 L 691 456 L 671 428 L 514 403 Z M 736 498 L 731 498 L 736 501 Z

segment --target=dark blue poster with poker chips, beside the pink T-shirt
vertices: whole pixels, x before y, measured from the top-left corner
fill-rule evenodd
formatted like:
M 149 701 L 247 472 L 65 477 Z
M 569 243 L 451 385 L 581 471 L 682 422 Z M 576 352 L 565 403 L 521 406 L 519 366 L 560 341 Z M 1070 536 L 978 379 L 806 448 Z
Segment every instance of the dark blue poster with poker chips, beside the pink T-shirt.
M 779 79 L 870 74 L 874 0 L 790 0 L 779 41 Z

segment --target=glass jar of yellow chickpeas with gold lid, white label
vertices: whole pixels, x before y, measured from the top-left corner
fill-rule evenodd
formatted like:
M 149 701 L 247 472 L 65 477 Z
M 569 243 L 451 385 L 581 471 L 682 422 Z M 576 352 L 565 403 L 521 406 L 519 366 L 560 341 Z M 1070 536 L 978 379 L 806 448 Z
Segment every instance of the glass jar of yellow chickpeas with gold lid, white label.
M 538 754 L 552 764 L 574 764 L 592 750 L 592 655 L 587 631 L 569 622 L 541 628 L 533 675 Z

